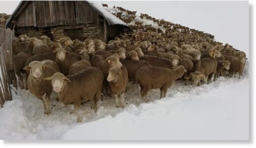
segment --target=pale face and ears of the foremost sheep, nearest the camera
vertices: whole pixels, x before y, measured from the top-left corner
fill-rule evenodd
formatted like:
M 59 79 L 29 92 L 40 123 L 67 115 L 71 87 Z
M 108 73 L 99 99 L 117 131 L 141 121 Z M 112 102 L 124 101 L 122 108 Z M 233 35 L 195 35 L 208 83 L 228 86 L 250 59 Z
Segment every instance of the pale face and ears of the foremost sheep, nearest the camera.
M 55 92 L 62 92 L 65 87 L 66 82 L 70 82 L 68 78 L 64 76 L 62 73 L 55 73 L 50 77 L 44 78 L 45 80 L 50 80 L 52 82 L 52 87 Z

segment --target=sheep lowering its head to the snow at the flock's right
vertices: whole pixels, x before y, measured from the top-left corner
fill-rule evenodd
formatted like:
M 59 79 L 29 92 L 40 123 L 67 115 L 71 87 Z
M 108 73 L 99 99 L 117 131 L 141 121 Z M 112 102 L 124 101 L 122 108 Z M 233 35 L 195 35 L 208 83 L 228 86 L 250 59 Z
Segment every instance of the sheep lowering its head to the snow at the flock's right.
M 207 83 L 208 76 L 211 75 L 211 78 L 208 80 L 209 83 L 209 81 L 212 82 L 214 80 L 216 70 L 217 65 L 213 60 L 211 60 L 210 58 L 203 58 L 195 64 L 195 72 L 190 73 L 190 76 L 185 78 L 188 80 L 192 78 L 193 84 L 200 85 L 201 79 L 204 80 L 204 83 Z

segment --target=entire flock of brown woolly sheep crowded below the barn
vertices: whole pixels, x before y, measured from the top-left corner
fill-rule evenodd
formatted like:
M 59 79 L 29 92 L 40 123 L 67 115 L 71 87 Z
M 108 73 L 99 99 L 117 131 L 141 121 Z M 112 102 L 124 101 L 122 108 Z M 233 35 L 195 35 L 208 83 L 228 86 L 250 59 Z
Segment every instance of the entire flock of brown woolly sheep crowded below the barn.
M 81 101 L 89 99 L 97 111 L 102 94 L 113 95 L 116 106 L 123 108 L 129 81 L 140 85 L 147 101 L 149 90 L 160 89 L 160 98 L 165 97 L 177 79 L 184 79 L 186 85 L 207 84 L 225 71 L 240 78 L 245 52 L 216 42 L 202 31 L 166 21 L 161 25 L 166 26 L 164 33 L 156 28 L 135 29 L 107 44 L 98 39 L 72 41 L 64 36 L 53 42 L 47 36 L 20 35 L 13 43 L 19 87 L 29 89 L 46 114 L 51 113 L 52 90 L 61 103 L 73 104 L 71 113 L 75 113 Z

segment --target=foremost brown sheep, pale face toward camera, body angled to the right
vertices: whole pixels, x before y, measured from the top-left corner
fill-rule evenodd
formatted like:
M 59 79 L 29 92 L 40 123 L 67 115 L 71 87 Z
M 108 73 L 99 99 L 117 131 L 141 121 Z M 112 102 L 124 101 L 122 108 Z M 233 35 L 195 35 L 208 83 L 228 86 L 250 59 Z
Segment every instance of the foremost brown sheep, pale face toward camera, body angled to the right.
M 97 103 L 100 99 L 103 82 L 103 75 L 99 69 L 90 67 L 80 73 L 68 76 L 57 72 L 44 79 L 52 82 L 52 88 L 62 104 L 72 103 L 70 113 L 76 113 L 82 99 L 94 99 L 92 107 L 97 112 Z M 79 119 L 78 122 L 81 122 Z

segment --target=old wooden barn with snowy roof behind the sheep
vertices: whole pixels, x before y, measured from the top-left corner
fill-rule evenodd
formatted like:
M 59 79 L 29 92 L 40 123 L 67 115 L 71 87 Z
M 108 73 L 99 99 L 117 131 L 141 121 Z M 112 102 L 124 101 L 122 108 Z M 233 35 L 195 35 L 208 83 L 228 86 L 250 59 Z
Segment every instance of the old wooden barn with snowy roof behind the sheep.
M 111 40 L 132 31 L 128 25 L 94 1 L 21 1 L 6 23 L 15 35 L 42 35 L 53 41 L 73 39 Z

